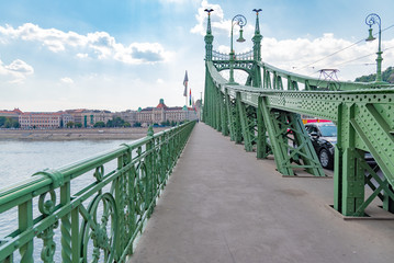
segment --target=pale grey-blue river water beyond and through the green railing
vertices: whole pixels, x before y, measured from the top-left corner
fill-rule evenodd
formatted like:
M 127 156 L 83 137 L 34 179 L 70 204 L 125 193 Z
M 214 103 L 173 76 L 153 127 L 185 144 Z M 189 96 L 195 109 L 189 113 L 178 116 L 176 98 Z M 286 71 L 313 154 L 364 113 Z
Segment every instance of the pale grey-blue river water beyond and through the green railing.
M 121 144 L 132 142 L 124 140 L 74 140 L 74 141 L 21 141 L 0 140 L 0 188 L 10 186 L 16 182 L 29 179 L 37 171 L 46 168 L 56 169 L 65 164 L 86 159 L 100 152 L 115 149 Z M 91 183 L 92 176 L 77 179 L 77 185 L 83 187 Z M 35 213 L 36 214 L 36 213 Z M 34 215 L 36 216 L 36 215 Z M 0 239 L 7 236 L 10 229 L 18 227 L 16 209 L 11 209 L 0 215 Z M 59 228 L 58 228 L 59 229 Z M 56 236 L 56 235 L 55 235 Z M 38 247 L 41 247 L 38 244 Z M 57 243 L 55 262 L 59 259 L 60 244 Z M 35 262 L 41 261 L 40 250 L 35 245 Z M 19 261 L 18 253 L 14 261 Z

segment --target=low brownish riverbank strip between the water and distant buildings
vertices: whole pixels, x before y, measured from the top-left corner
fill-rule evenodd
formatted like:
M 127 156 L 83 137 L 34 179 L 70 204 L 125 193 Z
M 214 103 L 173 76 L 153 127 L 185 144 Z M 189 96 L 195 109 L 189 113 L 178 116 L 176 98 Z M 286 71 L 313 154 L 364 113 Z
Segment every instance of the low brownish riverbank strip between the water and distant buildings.
M 154 128 L 155 133 L 169 127 Z M 101 140 L 139 139 L 148 128 L 0 129 L 0 140 Z

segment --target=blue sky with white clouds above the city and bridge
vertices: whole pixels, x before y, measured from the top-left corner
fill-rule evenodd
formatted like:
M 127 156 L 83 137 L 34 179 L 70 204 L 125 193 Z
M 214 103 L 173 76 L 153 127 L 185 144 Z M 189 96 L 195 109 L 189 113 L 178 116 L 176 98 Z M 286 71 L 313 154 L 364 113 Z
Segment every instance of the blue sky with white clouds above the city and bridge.
M 393 0 L 1 1 L 0 110 L 116 112 L 156 106 L 159 99 L 182 106 L 185 70 L 198 100 L 204 91 L 206 8 L 214 9 L 215 50 L 229 52 L 236 14 L 247 19 L 247 41 L 234 49 L 250 50 L 252 9 L 262 9 L 264 62 L 316 78 L 319 69 L 338 69 L 340 80 L 351 81 L 376 70 L 378 41 L 362 41 L 367 15 L 376 13 L 383 69 L 394 66 Z M 378 33 L 376 24 L 372 28 Z

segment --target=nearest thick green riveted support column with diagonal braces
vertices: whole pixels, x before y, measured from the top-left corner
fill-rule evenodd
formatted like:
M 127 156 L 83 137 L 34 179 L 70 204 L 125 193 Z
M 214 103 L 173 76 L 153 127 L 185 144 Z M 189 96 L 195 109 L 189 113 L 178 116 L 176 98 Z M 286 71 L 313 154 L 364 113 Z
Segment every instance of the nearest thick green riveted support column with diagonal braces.
M 362 114 L 360 114 L 362 113 Z M 373 116 L 373 117 L 371 117 Z M 372 122 L 372 123 L 371 123 Z M 334 208 L 344 216 L 367 216 L 365 208 L 379 197 L 383 208 L 394 213 L 394 192 L 389 181 L 378 171 L 389 172 L 390 161 L 382 160 L 382 152 L 387 152 L 393 141 L 386 122 L 380 117 L 375 106 L 342 103 L 338 108 L 338 142 L 335 149 L 335 199 Z M 380 134 L 381 137 L 376 137 Z M 372 145 L 371 141 L 378 144 Z M 385 142 L 379 144 L 379 140 Z M 365 152 L 359 147 L 365 144 L 375 157 L 376 164 L 365 161 Z M 390 149 L 394 151 L 393 149 Z M 387 153 L 389 156 L 390 153 Z M 373 164 L 373 165 L 372 165 Z M 387 165 L 389 164 L 389 165 Z M 365 199 L 365 186 L 373 193 Z

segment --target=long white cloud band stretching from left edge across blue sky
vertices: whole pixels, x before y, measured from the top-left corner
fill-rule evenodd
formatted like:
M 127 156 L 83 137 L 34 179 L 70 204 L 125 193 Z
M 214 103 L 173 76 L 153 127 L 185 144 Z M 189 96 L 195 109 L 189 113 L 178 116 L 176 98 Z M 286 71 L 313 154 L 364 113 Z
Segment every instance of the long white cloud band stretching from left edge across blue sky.
M 74 52 L 78 58 L 114 59 L 124 64 L 156 64 L 168 61 L 172 53 L 159 43 L 132 43 L 125 46 L 106 32 L 80 35 L 56 28 L 41 28 L 25 23 L 19 27 L 0 26 L 0 41 L 37 42 L 53 53 Z

